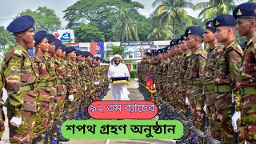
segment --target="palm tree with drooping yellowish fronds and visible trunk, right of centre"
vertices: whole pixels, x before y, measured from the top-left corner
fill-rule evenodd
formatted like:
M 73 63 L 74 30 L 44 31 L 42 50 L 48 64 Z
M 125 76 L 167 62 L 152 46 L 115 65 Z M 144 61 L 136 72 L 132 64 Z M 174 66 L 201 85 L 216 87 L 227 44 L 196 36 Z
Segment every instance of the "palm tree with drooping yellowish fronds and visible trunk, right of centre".
M 162 19 L 163 25 L 172 22 L 173 38 L 175 38 L 175 21 L 184 22 L 188 26 L 192 25 L 192 20 L 184 10 L 184 8 L 194 8 L 192 2 L 186 0 L 155 0 L 152 6 L 157 6 L 154 13 Z

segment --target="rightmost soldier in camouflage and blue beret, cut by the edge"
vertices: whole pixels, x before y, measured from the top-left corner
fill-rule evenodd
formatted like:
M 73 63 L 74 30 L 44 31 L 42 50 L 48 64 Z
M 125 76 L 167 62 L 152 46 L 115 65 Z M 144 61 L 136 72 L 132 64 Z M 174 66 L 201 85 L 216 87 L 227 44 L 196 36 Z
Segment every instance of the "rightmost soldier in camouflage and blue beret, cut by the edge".
M 246 49 L 242 65 L 238 69 L 236 88 L 241 97 L 240 109 L 242 114 L 241 139 L 247 143 L 256 143 L 256 3 L 246 2 L 237 6 L 233 16 L 237 19 L 238 33 L 246 37 Z M 239 101 L 238 101 L 239 102 Z M 236 119 L 232 117 L 233 121 Z

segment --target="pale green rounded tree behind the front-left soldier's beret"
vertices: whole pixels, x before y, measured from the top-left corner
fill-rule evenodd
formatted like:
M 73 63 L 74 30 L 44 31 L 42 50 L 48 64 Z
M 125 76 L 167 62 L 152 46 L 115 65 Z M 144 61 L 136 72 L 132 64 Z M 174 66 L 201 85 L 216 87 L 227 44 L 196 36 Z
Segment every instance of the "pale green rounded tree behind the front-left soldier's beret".
M 53 33 L 61 28 L 60 18 L 55 14 L 54 10 L 48 9 L 46 6 L 39 6 L 37 10 L 24 10 L 19 16 L 30 15 L 34 18 L 34 27 L 36 31 L 46 30 L 48 33 Z

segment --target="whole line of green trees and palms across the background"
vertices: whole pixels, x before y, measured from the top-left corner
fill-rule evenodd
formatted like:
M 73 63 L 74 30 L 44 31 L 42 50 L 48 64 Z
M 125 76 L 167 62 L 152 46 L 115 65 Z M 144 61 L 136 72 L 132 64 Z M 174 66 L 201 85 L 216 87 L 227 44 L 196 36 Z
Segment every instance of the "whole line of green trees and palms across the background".
M 190 0 L 154 0 L 154 12 L 146 18 L 138 12 L 144 6 L 133 0 L 78 0 L 63 11 L 63 18 L 68 22 L 65 29 L 74 30 L 76 42 L 170 40 L 184 33 L 187 26 L 204 27 L 218 14 L 230 14 L 235 2 L 242 0 L 209 0 L 195 5 Z M 201 10 L 198 18 L 187 14 L 186 8 Z M 26 14 L 34 17 L 36 30 L 53 33 L 62 28 L 58 15 L 47 7 L 24 10 L 18 16 Z M 14 36 L 0 26 L 0 44 L 13 42 Z

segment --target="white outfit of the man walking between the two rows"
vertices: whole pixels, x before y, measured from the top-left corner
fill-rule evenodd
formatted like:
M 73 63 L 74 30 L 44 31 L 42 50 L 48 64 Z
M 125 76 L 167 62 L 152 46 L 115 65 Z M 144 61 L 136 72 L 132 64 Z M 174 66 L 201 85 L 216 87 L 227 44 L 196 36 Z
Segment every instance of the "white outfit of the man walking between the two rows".
M 111 77 L 129 77 L 130 79 L 130 74 L 128 71 L 128 68 L 125 64 L 119 63 L 119 65 L 110 65 L 110 68 L 108 70 L 108 79 L 109 81 Z M 114 100 L 130 100 L 128 98 L 129 91 L 127 90 L 126 83 L 118 83 L 115 84 L 114 86 L 111 86 L 112 94 Z

